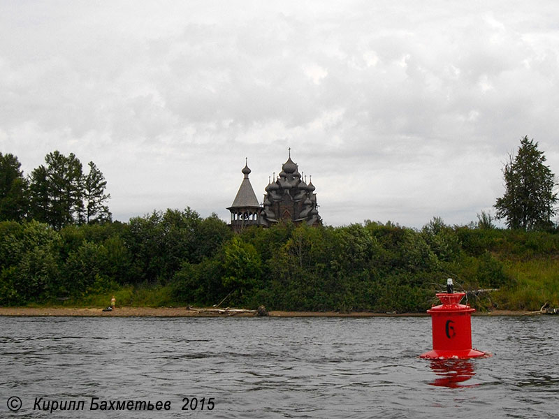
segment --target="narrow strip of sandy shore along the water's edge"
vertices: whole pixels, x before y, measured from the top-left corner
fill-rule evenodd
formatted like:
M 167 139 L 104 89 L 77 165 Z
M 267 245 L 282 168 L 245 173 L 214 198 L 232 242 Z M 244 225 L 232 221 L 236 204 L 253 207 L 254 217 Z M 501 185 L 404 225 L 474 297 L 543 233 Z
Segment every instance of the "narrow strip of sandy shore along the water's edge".
M 474 313 L 474 316 L 521 316 L 522 311 L 496 310 L 491 313 Z M 73 307 L 0 307 L 0 316 L 70 316 L 70 317 L 254 317 L 251 311 L 235 311 L 227 309 L 187 309 L 185 307 L 117 307 L 113 311 L 101 308 Z M 419 317 L 427 313 L 368 313 L 336 311 L 270 311 L 270 317 Z

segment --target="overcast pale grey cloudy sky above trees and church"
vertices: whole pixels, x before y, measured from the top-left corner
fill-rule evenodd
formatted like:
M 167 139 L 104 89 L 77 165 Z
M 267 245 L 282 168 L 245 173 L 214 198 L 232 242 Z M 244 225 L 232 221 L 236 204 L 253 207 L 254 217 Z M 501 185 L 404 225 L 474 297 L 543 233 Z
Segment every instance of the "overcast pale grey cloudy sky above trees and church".
M 328 225 L 469 223 L 524 135 L 559 173 L 554 1 L 0 0 L 0 152 L 73 152 L 113 217 L 228 220 L 291 147 Z

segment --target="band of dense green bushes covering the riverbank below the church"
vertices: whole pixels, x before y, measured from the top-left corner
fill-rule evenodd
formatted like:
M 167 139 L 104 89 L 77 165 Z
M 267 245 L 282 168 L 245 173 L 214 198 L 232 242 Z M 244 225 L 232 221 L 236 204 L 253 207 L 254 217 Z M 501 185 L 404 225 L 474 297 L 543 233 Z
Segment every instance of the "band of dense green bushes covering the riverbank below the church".
M 101 305 L 114 294 L 121 305 L 424 311 L 450 277 L 479 309 L 558 306 L 559 235 L 482 221 L 286 223 L 240 235 L 189 208 L 59 230 L 3 221 L 0 304 Z

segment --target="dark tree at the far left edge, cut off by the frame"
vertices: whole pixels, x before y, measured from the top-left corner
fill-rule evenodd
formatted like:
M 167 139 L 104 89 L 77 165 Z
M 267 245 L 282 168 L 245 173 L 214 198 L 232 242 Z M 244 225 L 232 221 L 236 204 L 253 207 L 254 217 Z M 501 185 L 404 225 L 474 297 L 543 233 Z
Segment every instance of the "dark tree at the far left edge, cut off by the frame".
M 13 154 L 0 152 L 0 221 L 21 221 L 27 213 L 27 180 Z

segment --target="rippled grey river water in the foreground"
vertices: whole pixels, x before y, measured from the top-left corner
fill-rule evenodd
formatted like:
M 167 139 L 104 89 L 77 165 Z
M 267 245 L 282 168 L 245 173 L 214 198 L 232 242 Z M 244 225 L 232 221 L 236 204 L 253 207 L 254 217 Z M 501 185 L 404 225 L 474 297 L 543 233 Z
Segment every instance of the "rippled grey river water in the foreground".
M 558 335 L 474 317 L 493 357 L 435 362 L 427 317 L 1 317 L 0 417 L 556 418 Z M 101 410 L 129 400 L 169 410 Z

